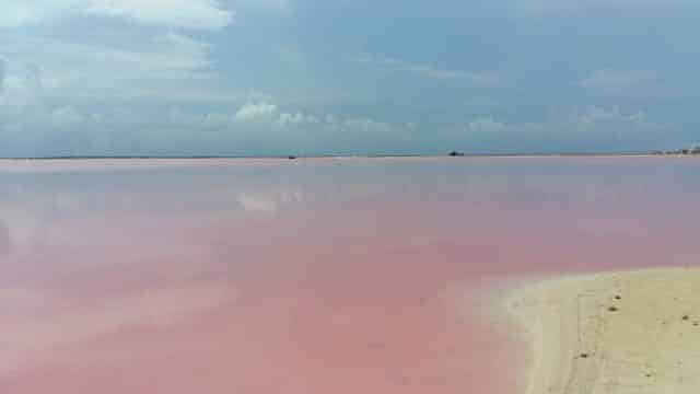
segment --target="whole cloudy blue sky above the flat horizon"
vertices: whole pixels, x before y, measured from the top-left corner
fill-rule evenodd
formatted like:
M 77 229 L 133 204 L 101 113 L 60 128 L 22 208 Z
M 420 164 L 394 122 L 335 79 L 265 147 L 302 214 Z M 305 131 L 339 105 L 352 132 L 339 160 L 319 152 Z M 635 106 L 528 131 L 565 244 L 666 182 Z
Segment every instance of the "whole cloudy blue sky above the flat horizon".
M 0 0 L 0 157 L 700 142 L 696 0 Z

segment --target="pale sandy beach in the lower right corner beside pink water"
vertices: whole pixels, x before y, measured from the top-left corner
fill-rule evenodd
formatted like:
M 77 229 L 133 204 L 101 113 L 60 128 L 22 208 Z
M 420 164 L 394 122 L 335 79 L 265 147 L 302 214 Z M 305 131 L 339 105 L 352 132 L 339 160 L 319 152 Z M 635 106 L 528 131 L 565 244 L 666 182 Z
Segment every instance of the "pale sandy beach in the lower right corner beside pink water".
M 700 387 L 700 269 L 571 276 L 506 300 L 532 344 L 524 393 Z

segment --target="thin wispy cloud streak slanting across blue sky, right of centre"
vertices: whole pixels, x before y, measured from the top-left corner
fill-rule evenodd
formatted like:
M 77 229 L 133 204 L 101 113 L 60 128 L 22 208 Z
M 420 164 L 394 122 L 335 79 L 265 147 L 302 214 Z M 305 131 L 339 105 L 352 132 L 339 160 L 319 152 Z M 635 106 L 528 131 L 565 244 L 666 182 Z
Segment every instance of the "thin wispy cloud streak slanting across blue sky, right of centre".
M 408 72 L 432 79 L 465 80 L 476 84 L 499 84 L 502 82 L 499 73 L 494 71 L 447 70 L 431 65 L 411 63 L 400 59 L 376 58 L 366 54 L 354 58 L 353 61 L 383 70 Z

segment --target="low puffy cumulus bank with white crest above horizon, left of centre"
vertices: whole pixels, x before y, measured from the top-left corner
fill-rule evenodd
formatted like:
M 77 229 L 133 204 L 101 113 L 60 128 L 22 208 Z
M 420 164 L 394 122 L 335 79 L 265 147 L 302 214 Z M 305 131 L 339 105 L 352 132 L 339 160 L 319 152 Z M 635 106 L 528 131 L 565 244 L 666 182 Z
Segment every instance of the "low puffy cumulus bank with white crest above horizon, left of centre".
M 188 153 L 183 154 L 398 152 L 406 149 L 407 141 L 411 135 L 418 135 L 419 128 L 417 124 L 407 121 L 393 123 L 366 116 L 342 116 L 323 112 L 307 113 L 296 108 L 292 111 L 267 101 L 248 101 L 231 111 L 207 114 L 200 114 L 196 108 L 180 107 L 179 111 L 172 111 L 154 120 L 162 121 L 151 124 L 148 131 L 143 132 L 143 139 L 191 140 L 186 151 Z

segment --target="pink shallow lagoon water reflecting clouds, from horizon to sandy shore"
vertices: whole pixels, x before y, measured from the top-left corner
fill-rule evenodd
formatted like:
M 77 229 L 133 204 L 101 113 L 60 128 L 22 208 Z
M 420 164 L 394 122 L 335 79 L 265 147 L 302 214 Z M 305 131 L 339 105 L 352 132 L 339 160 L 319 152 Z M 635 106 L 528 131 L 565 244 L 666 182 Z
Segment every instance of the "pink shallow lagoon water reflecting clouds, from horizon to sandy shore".
M 698 264 L 700 161 L 0 162 L 0 392 L 518 393 L 482 290 Z

